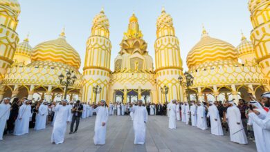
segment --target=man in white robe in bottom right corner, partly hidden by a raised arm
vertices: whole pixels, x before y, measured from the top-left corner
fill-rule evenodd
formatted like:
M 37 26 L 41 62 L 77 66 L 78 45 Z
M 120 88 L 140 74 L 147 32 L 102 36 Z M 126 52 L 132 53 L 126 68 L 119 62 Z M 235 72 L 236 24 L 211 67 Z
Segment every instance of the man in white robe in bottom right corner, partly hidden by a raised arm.
M 249 106 L 252 106 L 253 111 L 258 111 L 260 115 L 260 119 L 264 119 L 267 116 L 267 111 L 264 111 L 264 108 L 259 104 L 259 102 L 251 101 L 249 102 Z M 248 121 L 249 125 L 252 125 L 253 131 L 254 131 L 254 137 L 255 137 L 255 144 L 258 152 L 264 152 L 267 151 L 267 143 L 264 141 L 263 138 L 263 130 L 262 128 L 256 124 L 250 117 Z

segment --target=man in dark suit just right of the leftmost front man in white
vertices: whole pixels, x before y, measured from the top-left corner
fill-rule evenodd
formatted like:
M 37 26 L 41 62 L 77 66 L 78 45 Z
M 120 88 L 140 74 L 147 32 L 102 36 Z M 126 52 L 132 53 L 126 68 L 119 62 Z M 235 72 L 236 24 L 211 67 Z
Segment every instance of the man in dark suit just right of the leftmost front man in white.
M 71 112 L 73 113 L 73 116 L 72 116 L 72 122 L 71 122 L 71 132 L 69 132 L 69 134 L 76 133 L 76 131 L 78 130 L 78 126 L 80 124 L 80 117 L 82 116 L 82 110 L 83 110 L 83 106 L 82 104 L 80 104 L 80 100 L 77 100 L 76 104 L 74 104 L 71 110 Z M 75 126 L 75 131 L 73 132 L 73 126 L 74 126 L 75 121 L 76 121 L 76 126 Z

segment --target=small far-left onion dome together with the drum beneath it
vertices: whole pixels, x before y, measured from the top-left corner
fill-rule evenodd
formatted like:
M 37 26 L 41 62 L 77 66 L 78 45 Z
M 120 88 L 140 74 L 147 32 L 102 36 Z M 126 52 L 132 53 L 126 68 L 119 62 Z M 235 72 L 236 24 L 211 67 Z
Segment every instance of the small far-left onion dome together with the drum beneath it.
M 15 64 L 30 64 L 32 50 L 33 48 L 32 46 L 30 46 L 27 36 L 23 42 L 17 45 L 15 55 L 13 57 L 13 61 L 15 61 Z

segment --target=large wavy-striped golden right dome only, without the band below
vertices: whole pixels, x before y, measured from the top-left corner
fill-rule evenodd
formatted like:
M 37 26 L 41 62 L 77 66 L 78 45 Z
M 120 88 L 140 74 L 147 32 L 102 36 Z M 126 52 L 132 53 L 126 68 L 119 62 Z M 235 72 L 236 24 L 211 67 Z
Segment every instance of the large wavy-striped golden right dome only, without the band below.
M 188 68 L 218 60 L 237 61 L 235 47 L 226 41 L 210 37 L 204 28 L 201 40 L 188 53 Z

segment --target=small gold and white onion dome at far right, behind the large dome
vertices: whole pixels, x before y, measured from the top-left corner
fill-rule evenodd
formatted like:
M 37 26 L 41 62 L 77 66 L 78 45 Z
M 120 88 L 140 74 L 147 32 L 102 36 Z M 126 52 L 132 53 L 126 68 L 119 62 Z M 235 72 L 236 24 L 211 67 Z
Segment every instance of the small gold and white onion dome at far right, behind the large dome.
M 251 43 L 251 41 L 246 40 L 246 37 L 244 37 L 243 33 L 242 33 L 242 41 L 236 47 L 236 50 L 239 56 L 255 53 L 253 44 Z

